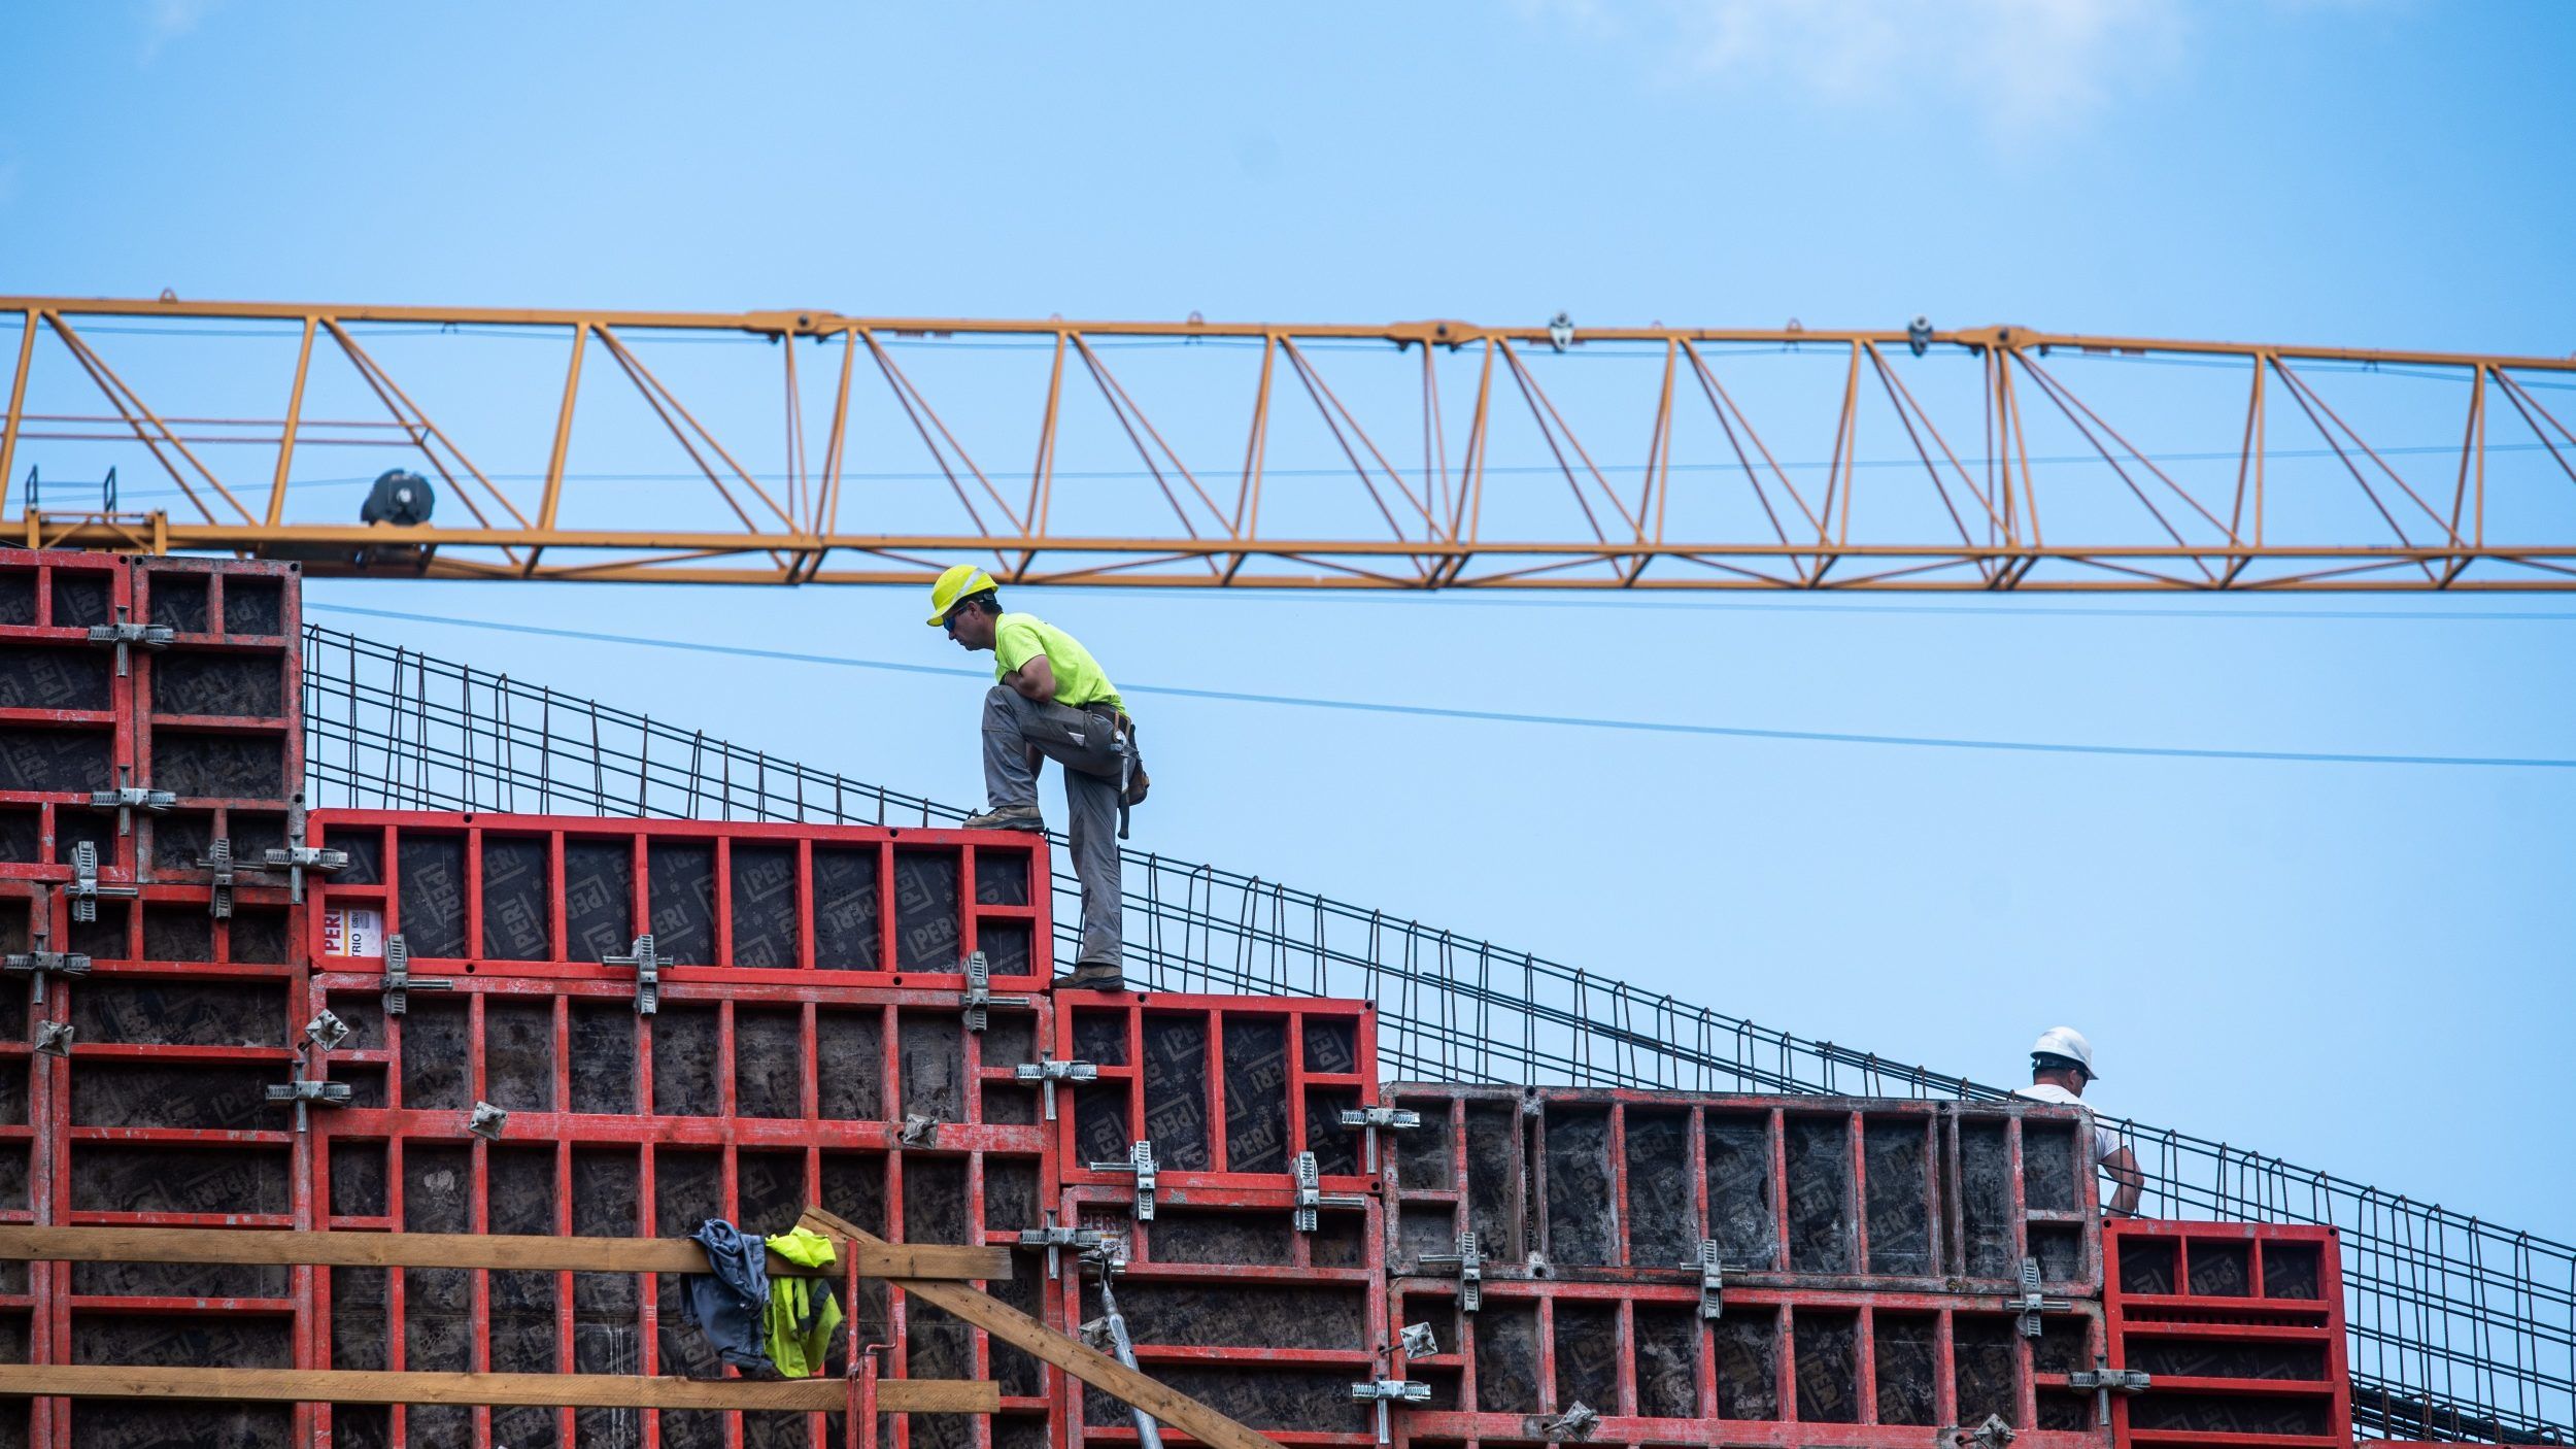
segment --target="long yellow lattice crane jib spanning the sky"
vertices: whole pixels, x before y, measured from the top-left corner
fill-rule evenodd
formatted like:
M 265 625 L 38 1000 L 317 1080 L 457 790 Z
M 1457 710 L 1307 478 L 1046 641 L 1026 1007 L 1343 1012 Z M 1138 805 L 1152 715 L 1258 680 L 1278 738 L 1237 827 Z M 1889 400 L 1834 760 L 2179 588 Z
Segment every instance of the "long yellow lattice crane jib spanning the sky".
M 688 583 L 2576 588 L 2568 358 L 167 297 L 5 297 L 10 322 L 0 516 L 15 487 L 41 547 Z M 167 508 L 39 495 L 64 459 Z M 428 477 L 438 518 L 361 523 L 374 467 Z

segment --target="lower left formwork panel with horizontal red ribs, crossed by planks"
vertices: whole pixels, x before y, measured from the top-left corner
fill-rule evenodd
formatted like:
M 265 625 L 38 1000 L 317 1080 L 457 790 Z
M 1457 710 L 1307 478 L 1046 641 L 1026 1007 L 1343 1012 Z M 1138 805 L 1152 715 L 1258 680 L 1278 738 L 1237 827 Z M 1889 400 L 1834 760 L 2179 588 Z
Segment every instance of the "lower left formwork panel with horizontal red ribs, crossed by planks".
M 49 977 L 33 1024 L 13 1031 L 15 1042 L 46 1026 L 70 1036 L 8 1052 L 33 1065 L 31 1220 L 312 1227 L 309 1142 L 294 1132 L 291 1106 L 268 1098 L 294 1073 L 296 1024 L 307 1018 L 286 890 L 242 887 L 222 918 L 209 890 L 180 884 L 98 900 L 95 920 L 75 920 L 59 890 L 13 905 L 0 931 L 10 941 L 26 933 L 23 913 L 52 913 L 57 946 L 90 957 L 85 975 Z M 8 1016 L 18 1016 L 33 982 L 8 990 Z M 307 1269 L 41 1263 L 28 1294 L 33 1361 L 314 1361 Z M 312 1421 L 294 1405 L 39 1400 L 31 1441 L 301 1444 Z

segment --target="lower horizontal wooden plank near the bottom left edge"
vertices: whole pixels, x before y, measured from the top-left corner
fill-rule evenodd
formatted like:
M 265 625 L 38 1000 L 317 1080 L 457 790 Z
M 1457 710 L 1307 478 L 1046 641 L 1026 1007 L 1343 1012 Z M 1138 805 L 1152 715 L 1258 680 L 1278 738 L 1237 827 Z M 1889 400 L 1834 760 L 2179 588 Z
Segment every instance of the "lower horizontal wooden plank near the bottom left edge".
M 925 1279 L 927 1281 L 927 1279 Z M 134 1369 L 0 1364 L 5 1397 L 165 1397 L 258 1403 L 489 1403 L 531 1408 L 747 1408 L 829 1413 L 842 1379 L 670 1379 L 636 1374 L 386 1374 L 366 1369 Z M 886 1413 L 994 1413 L 1002 1387 L 974 1379 L 878 1379 Z

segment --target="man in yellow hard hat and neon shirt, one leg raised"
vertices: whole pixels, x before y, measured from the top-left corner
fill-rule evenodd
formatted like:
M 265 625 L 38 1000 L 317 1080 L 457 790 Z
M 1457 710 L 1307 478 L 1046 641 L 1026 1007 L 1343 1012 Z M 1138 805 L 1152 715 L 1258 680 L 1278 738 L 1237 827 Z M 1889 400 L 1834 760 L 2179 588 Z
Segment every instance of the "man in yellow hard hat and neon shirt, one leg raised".
M 999 585 L 956 565 L 930 585 L 930 627 L 961 650 L 992 650 L 984 694 L 984 797 L 969 830 L 1046 830 L 1038 766 L 1064 766 L 1066 841 L 1082 882 L 1082 951 L 1059 985 L 1126 990 L 1118 969 L 1118 835 L 1123 810 L 1144 799 L 1136 722 L 1118 686 L 1072 634 L 1033 614 L 1005 614 Z

